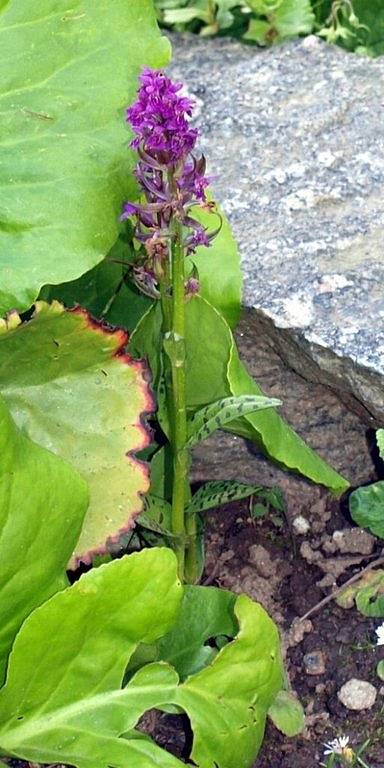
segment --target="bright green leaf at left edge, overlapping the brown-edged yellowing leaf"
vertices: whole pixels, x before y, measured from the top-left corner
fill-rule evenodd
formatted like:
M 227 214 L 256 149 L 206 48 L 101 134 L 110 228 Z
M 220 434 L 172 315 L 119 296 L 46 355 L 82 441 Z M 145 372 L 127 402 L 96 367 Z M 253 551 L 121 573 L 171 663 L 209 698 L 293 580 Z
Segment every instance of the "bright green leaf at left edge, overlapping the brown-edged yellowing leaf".
M 87 501 L 77 472 L 24 435 L 0 398 L 0 683 L 22 621 L 67 585 Z

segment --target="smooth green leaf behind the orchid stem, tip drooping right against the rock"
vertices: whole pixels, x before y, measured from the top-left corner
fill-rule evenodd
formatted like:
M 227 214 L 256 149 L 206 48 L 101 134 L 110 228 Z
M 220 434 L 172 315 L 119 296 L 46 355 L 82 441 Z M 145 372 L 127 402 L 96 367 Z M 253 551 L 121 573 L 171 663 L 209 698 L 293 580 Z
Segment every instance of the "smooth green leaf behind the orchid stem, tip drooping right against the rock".
M 147 357 L 155 384 L 160 373 L 161 308 L 151 307 L 131 336 L 132 353 Z M 187 406 L 197 409 L 225 397 L 263 396 L 241 363 L 231 330 L 201 296 L 186 304 Z M 305 444 L 274 408 L 246 414 L 225 430 L 253 442 L 281 466 L 341 493 L 348 482 Z

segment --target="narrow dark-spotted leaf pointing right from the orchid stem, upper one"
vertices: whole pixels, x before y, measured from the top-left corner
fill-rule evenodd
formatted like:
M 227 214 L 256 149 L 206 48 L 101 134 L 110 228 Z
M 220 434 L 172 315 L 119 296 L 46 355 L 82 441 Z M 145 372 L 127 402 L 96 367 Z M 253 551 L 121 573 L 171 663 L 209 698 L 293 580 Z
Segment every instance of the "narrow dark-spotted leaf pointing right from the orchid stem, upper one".
M 205 440 L 217 429 L 223 429 L 226 424 L 247 413 L 263 411 L 266 408 L 276 408 L 281 400 L 261 395 L 244 395 L 225 397 L 196 411 L 188 424 L 188 442 L 192 446 Z

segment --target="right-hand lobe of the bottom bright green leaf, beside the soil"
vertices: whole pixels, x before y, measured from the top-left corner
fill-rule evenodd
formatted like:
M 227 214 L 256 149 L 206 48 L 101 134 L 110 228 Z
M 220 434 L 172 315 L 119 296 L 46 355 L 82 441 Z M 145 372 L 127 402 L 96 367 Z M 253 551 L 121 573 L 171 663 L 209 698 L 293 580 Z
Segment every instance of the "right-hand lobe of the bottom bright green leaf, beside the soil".
M 265 718 L 282 688 L 276 626 L 263 608 L 241 595 L 235 603 L 240 630 L 210 666 L 180 686 L 175 704 L 189 715 L 192 760 L 199 766 L 253 764 Z

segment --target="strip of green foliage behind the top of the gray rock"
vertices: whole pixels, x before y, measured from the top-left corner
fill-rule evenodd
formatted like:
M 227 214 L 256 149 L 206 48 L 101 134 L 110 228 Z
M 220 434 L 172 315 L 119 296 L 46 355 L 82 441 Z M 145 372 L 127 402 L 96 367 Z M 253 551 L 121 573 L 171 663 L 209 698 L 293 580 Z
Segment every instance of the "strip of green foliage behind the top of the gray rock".
M 383 0 L 155 0 L 160 23 L 271 45 L 320 34 L 348 51 L 384 53 Z

